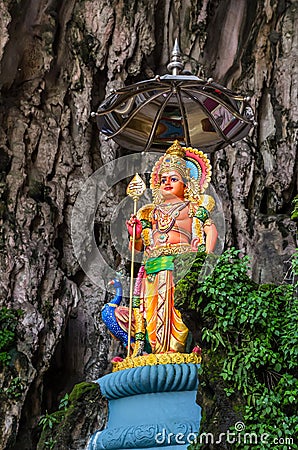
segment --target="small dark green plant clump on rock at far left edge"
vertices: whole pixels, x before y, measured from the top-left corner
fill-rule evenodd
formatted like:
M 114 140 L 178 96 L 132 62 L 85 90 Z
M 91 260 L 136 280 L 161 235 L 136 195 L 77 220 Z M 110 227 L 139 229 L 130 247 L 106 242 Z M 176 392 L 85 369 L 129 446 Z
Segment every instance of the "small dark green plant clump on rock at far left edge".
M 0 308 L 0 367 L 9 365 L 9 352 L 15 346 L 16 328 L 22 314 L 20 309 Z

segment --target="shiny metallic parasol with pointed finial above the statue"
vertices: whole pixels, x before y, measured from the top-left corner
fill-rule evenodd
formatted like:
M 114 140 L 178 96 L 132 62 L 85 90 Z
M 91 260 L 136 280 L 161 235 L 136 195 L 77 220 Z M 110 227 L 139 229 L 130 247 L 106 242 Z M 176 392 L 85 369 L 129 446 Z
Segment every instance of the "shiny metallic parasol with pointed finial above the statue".
M 174 140 L 207 153 L 244 138 L 254 125 L 249 97 L 184 74 L 176 40 L 168 70 L 113 92 L 93 116 L 101 133 L 131 151 L 164 150 Z

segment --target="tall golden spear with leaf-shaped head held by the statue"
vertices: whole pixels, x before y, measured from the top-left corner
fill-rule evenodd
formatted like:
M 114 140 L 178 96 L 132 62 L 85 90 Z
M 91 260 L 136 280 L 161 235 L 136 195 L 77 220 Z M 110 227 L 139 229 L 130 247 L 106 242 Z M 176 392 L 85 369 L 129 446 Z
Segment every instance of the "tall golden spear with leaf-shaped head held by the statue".
M 126 193 L 133 198 L 133 214 L 137 214 L 137 203 L 141 195 L 145 192 L 146 185 L 138 173 L 135 174 L 131 182 L 127 186 Z M 129 315 L 128 315 L 128 339 L 127 339 L 127 356 L 130 355 L 131 343 L 131 322 L 132 322 L 132 297 L 134 282 L 134 260 L 135 260 L 135 241 L 136 241 L 136 224 L 132 229 L 132 247 L 131 247 L 131 267 L 130 267 L 130 292 L 129 292 Z

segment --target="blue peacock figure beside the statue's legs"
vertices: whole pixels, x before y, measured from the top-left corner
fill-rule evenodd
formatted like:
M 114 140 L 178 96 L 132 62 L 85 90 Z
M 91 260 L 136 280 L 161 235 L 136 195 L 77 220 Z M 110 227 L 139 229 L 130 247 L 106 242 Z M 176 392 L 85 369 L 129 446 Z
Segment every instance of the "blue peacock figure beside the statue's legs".
M 115 288 L 115 296 L 103 306 L 101 317 L 111 335 L 127 347 L 129 309 L 127 306 L 120 305 L 122 301 L 122 284 L 119 280 L 114 279 L 109 282 L 109 285 Z M 134 329 L 134 317 L 132 315 L 131 343 L 134 343 Z

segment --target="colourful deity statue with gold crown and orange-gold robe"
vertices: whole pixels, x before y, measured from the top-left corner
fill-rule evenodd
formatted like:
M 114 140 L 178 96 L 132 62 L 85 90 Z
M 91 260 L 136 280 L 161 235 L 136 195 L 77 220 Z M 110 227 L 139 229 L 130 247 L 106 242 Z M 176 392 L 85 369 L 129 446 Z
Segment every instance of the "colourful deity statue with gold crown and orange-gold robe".
M 135 227 L 130 247 L 134 241 L 135 250 L 144 252 L 133 296 L 133 357 L 143 354 L 145 338 L 155 354 L 185 351 L 188 329 L 174 307 L 173 270 L 177 255 L 215 249 L 215 201 L 204 194 L 210 178 L 207 156 L 175 141 L 154 165 L 153 203 L 126 223 L 130 236 Z

